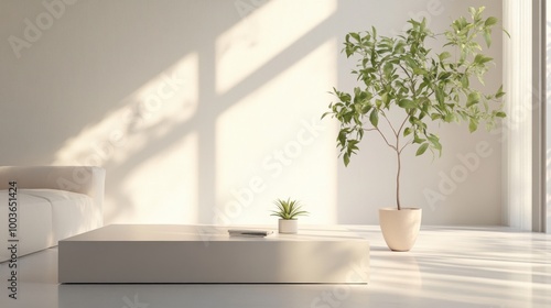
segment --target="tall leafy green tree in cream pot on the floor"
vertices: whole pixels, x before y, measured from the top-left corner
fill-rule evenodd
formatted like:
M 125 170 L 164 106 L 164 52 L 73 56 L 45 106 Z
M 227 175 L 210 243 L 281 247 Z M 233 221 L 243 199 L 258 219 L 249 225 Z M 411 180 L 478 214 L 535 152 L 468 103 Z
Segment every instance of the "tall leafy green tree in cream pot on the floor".
M 352 74 L 359 86 L 353 92 L 333 88 L 336 101 L 322 118 L 331 116 L 341 123 L 337 146 L 345 166 L 359 150 L 365 133 L 380 135 L 395 153 L 396 208 L 379 210 L 381 231 L 391 250 L 410 250 L 421 223 L 421 209 L 403 207 L 400 200 L 403 150 L 417 145 L 415 155 L 428 150 L 442 152 L 439 136 L 428 125 L 430 121 L 466 121 L 474 132 L 482 122 L 491 129 L 496 119 L 506 117 L 501 111 L 503 87 L 484 94 L 471 85 L 477 79 L 484 86 L 493 64 L 482 51 L 483 45 L 490 46 L 497 19 L 484 19 L 483 11 L 484 7 L 469 8 L 469 20 L 461 16 L 441 34 L 432 33 L 423 19 L 410 20 L 409 30 L 396 37 L 378 35 L 375 26 L 345 36 L 343 52 L 357 61 Z M 442 41 L 442 50 L 428 48 L 428 38 Z

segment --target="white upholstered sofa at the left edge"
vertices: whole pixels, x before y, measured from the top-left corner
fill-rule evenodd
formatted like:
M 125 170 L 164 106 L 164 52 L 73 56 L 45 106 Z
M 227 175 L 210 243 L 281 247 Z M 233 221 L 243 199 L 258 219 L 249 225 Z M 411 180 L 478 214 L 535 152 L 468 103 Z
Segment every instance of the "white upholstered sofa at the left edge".
M 18 255 L 104 224 L 106 172 L 89 166 L 0 166 L 0 262 L 10 258 L 9 187 L 18 186 Z

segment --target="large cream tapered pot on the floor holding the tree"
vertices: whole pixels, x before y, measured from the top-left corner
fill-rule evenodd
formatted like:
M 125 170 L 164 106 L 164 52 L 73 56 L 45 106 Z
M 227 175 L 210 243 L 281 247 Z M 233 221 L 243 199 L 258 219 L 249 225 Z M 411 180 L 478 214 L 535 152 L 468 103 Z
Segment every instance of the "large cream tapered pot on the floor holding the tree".
M 420 208 L 379 209 L 379 224 L 389 249 L 409 251 L 413 248 L 421 228 Z

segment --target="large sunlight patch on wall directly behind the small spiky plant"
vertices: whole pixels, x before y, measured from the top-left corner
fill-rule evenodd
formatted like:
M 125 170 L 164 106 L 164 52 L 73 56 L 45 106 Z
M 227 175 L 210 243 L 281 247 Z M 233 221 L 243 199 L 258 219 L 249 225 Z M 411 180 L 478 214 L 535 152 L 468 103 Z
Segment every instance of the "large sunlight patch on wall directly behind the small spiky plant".
M 320 118 L 337 82 L 337 48 L 331 40 L 305 52 L 218 118 L 215 222 L 276 223 L 272 201 L 288 197 L 312 212 L 304 223 L 336 222 L 336 123 Z

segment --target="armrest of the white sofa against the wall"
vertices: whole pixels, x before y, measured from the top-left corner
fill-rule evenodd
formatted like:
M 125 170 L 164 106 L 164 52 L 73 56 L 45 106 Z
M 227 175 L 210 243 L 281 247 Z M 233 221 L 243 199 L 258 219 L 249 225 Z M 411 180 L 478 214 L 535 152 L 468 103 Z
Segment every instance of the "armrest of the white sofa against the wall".
M 106 170 L 96 166 L 0 166 L 0 189 L 15 180 L 21 189 L 60 189 L 85 194 L 104 206 Z

